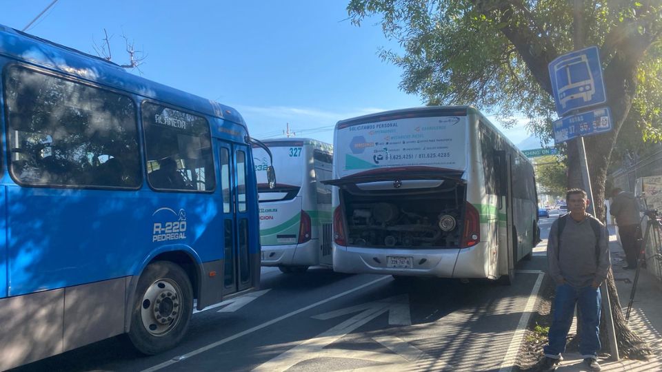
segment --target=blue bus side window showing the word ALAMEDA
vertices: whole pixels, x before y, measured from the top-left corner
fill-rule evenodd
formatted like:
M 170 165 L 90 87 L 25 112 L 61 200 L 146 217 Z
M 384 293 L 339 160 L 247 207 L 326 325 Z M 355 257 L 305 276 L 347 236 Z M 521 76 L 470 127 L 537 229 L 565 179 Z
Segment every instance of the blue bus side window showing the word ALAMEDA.
M 143 103 L 147 178 L 154 189 L 210 192 L 216 186 L 205 118 Z

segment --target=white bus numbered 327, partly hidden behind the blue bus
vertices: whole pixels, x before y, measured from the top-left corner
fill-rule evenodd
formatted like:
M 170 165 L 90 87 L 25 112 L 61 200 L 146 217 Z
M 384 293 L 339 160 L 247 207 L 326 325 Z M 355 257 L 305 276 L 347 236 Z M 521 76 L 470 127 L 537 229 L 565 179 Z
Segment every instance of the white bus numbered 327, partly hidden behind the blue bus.
M 262 266 L 283 273 L 309 266 L 331 267 L 331 189 L 333 147 L 310 138 L 264 141 L 279 169 L 276 187 L 267 184 L 268 154 L 254 147 L 260 204 Z

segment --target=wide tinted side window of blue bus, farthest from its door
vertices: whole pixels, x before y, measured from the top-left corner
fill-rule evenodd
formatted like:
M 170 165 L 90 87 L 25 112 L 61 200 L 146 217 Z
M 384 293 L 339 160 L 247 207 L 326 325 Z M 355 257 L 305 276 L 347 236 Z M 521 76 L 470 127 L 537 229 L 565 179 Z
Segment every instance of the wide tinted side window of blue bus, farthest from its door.
M 10 174 L 23 185 L 141 184 L 133 101 L 12 66 L 4 79 Z

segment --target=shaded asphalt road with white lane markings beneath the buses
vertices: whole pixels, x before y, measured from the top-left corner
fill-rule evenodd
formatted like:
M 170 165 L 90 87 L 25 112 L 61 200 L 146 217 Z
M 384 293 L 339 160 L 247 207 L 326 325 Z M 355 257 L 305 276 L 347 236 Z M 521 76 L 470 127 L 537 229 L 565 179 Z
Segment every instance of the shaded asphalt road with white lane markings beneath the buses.
M 543 239 L 557 216 L 541 219 Z M 545 241 L 512 286 L 263 268 L 261 291 L 195 313 L 176 349 L 146 357 L 117 337 L 17 371 L 499 371 L 516 355 Z

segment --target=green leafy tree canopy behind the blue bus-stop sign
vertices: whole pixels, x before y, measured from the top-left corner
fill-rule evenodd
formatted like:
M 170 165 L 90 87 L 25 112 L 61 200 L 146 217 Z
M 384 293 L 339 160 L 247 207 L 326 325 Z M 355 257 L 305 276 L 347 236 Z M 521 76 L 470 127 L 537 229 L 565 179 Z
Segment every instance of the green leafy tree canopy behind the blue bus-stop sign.
M 647 138 L 659 138 L 662 6 L 660 0 L 581 4 L 577 37 L 571 1 L 350 0 L 348 11 L 356 24 L 381 16 L 385 35 L 401 43 L 403 54 L 382 50 L 381 56 L 403 69 L 405 92 L 430 104 L 476 105 L 501 118 L 523 114 L 543 139 L 551 137 L 556 118 L 548 63 L 574 45 L 598 45 L 614 116 L 612 132 L 586 140 L 594 202 L 601 208 L 621 125 L 639 125 Z M 633 101 L 639 116 L 625 121 Z M 568 167 L 568 186 L 581 187 L 574 141 Z

